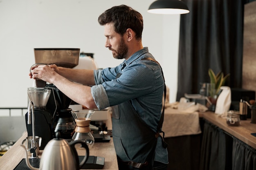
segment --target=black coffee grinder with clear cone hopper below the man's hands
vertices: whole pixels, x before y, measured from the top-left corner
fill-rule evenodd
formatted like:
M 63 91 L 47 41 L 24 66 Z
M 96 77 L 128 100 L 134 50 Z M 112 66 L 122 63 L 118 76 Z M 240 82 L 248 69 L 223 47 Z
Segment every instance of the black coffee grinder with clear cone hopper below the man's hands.
M 28 88 L 27 94 L 30 100 L 28 112 L 25 115 L 27 133 L 28 136 L 42 138 L 40 150 L 43 150 L 48 141 L 52 139 L 52 116 L 49 110 L 46 109 L 51 91 L 35 87 Z

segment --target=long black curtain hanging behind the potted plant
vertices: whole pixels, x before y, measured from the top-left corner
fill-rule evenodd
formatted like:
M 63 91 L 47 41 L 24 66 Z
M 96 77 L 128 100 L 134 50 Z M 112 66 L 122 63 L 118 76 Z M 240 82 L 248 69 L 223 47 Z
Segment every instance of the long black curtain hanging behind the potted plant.
M 177 101 L 210 82 L 208 69 L 230 73 L 226 86 L 241 88 L 244 4 L 253 0 L 182 0 Z

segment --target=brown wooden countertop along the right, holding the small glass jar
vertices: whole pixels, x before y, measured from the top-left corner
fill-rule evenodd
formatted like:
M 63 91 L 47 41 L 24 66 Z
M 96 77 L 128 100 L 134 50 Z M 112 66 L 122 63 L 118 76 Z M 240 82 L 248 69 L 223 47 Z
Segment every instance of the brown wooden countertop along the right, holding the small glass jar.
M 200 113 L 200 117 L 203 117 L 212 124 L 217 125 L 230 135 L 243 141 L 245 144 L 256 148 L 256 137 L 251 135 L 251 133 L 256 133 L 256 124 L 252 124 L 251 119 L 241 120 L 240 126 L 228 126 L 226 119 L 221 118 L 218 114 L 210 111 Z

